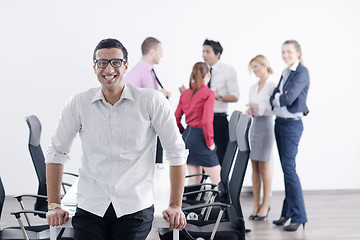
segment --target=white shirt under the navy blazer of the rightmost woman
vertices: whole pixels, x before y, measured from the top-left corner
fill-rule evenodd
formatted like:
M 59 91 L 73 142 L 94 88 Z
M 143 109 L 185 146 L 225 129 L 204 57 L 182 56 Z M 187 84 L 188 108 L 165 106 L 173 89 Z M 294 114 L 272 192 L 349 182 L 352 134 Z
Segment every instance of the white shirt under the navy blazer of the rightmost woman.
M 287 110 L 286 106 L 282 106 L 280 107 L 280 95 L 283 94 L 283 89 L 284 89 L 284 85 L 287 81 L 287 79 L 290 76 L 291 71 L 296 71 L 297 67 L 299 66 L 299 60 L 296 61 L 291 67 L 287 67 L 285 68 L 285 70 L 282 73 L 282 79 L 279 85 L 279 91 L 278 93 L 275 94 L 274 96 L 274 100 L 273 100 L 273 106 L 274 106 L 274 112 L 275 115 L 277 117 L 282 117 L 282 118 L 297 118 L 297 117 L 302 117 L 304 114 L 303 113 L 291 113 Z

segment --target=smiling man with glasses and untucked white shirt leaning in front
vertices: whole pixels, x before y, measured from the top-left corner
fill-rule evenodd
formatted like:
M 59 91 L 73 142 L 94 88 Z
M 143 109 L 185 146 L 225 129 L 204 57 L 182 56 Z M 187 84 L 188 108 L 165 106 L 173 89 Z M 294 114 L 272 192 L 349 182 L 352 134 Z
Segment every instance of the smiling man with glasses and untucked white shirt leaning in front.
M 163 211 L 170 228 L 183 229 L 181 211 L 187 150 L 169 102 L 162 93 L 125 84 L 127 50 L 116 39 L 102 40 L 94 51 L 100 88 L 72 97 L 66 104 L 46 155 L 48 223 L 68 220 L 61 209 L 63 164 L 79 133 L 82 166 L 75 239 L 146 239 L 153 220 L 156 136 L 170 162 L 171 193 Z

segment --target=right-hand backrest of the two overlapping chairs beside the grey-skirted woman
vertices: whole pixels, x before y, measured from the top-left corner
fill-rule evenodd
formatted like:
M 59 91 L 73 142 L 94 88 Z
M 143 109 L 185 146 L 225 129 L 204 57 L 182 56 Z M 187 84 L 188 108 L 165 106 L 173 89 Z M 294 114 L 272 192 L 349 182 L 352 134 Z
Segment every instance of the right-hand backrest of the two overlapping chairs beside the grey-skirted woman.
M 237 217 L 243 219 L 243 213 L 240 204 L 240 192 L 243 186 L 246 168 L 250 156 L 249 130 L 251 127 L 251 123 L 252 117 L 242 114 L 236 126 L 238 152 L 234 161 L 231 179 L 228 186 L 231 205 L 236 211 L 236 214 L 233 214 L 235 216 L 233 216 L 232 218 Z M 229 214 L 229 218 L 231 218 L 230 215 L 231 214 Z

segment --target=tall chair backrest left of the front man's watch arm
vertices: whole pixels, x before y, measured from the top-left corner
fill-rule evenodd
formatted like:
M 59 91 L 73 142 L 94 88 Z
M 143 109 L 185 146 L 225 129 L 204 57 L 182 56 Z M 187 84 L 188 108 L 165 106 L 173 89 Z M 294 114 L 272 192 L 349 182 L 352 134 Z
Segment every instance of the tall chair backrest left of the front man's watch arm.
M 45 157 L 40 145 L 41 123 L 35 115 L 28 116 L 25 118 L 25 120 L 29 126 L 29 152 L 39 181 L 37 194 L 46 196 L 46 164 Z M 34 209 L 47 211 L 46 200 L 38 198 L 35 202 Z

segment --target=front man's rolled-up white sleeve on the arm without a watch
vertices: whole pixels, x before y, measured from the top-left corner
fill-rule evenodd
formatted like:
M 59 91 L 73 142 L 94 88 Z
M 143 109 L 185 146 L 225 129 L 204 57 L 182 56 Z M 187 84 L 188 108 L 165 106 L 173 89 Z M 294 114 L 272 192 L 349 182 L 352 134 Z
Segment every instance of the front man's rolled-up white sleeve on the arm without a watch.
M 151 122 L 161 144 L 166 151 L 166 159 L 170 166 L 179 166 L 186 163 L 188 150 L 178 130 L 175 115 L 171 110 L 169 101 L 162 93 L 154 94 L 154 102 L 151 108 Z

